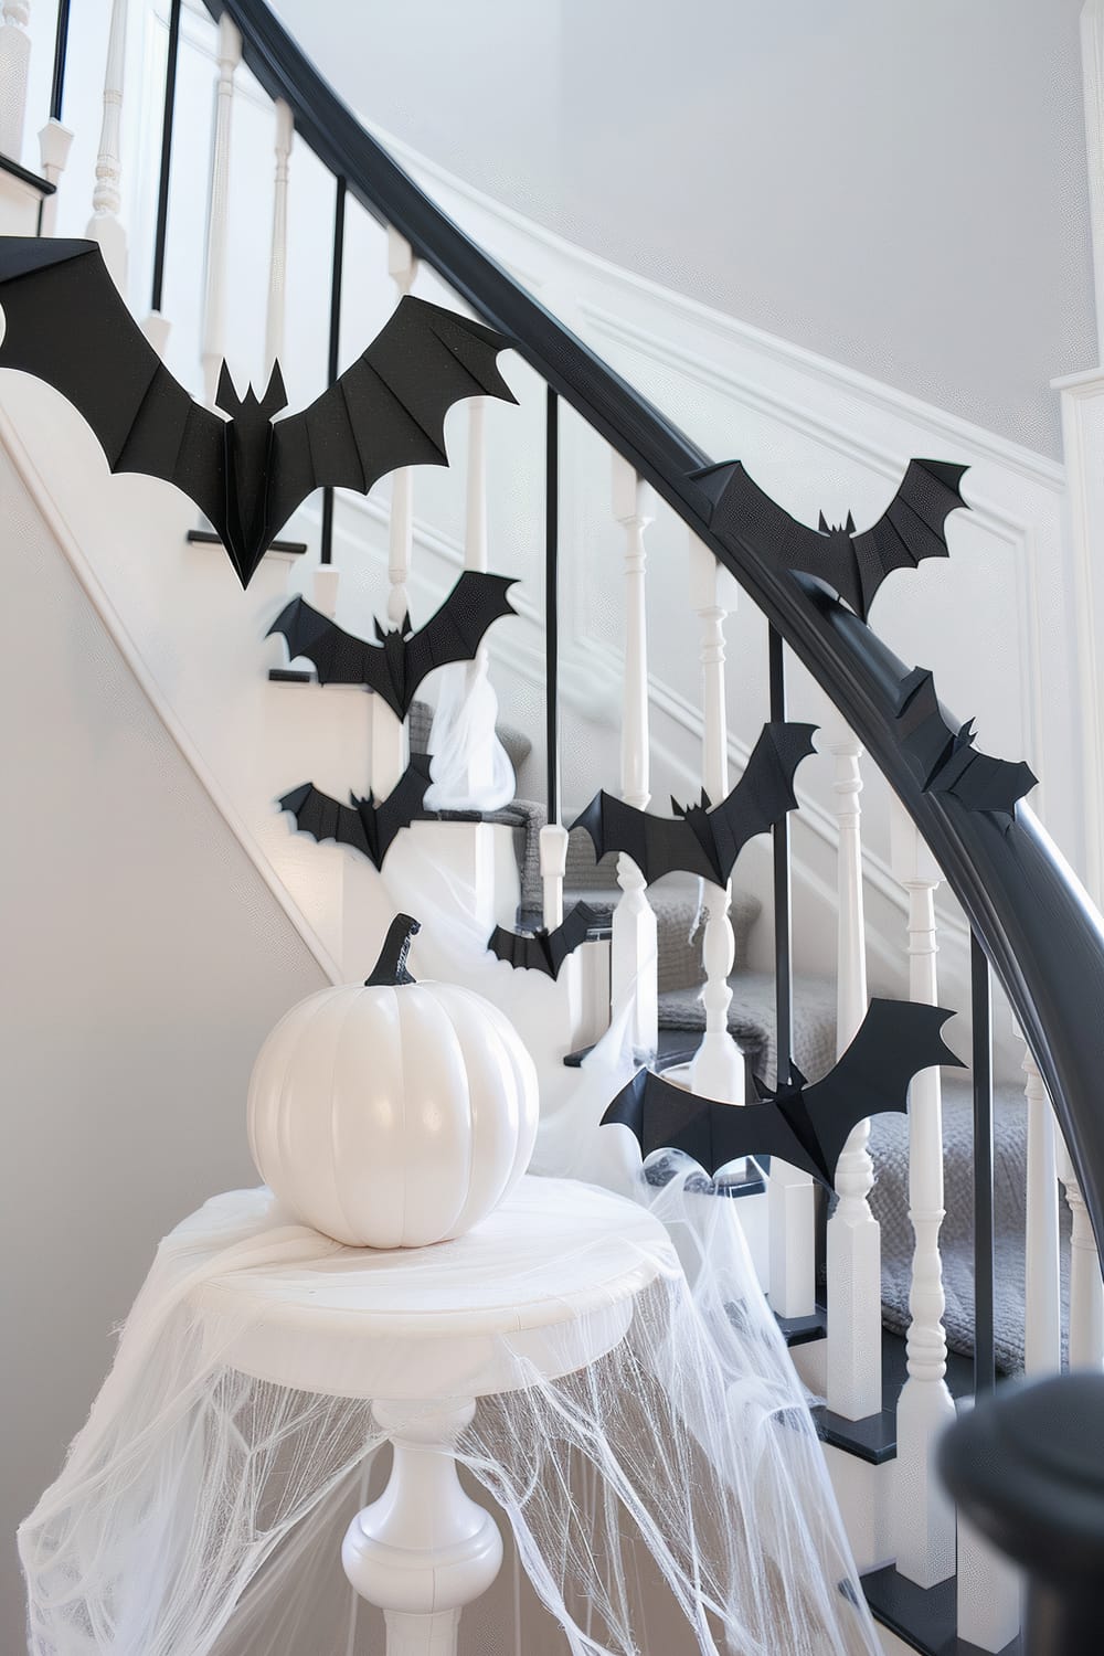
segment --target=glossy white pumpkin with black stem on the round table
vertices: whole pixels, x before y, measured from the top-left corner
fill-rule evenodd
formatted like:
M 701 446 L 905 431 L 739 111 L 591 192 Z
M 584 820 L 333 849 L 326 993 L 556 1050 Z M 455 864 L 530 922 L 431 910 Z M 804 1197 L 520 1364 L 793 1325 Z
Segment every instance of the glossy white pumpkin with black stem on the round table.
M 478 1224 L 525 1172 L 536 1068 L 510 1020 L 415 982 L 401 914 L 361 987 L 323 989 L 253 1065 L 253 1161 L 303 1224 L 353 1247 L 422 1247 Z

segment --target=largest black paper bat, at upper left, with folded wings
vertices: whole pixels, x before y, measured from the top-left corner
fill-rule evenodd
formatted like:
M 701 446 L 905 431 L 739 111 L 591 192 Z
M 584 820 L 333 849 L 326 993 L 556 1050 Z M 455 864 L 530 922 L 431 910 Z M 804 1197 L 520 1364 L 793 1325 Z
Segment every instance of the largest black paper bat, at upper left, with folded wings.
M 319 487 L 367 493 L 401 465 L 447 465 L 445 414 L 460 397 L 513 402 L 502 335 L 404 298 L 364 354 L 301 414 L 280 366 L 238 397 L 223 363 L 218 414 L 172 378 L 119 298 L 96 242 L 0 238 L 0 368 L 55 386 L 84 416 L 113 472 L 146 472 L 207 513 L 242 586 L 295 508 Z

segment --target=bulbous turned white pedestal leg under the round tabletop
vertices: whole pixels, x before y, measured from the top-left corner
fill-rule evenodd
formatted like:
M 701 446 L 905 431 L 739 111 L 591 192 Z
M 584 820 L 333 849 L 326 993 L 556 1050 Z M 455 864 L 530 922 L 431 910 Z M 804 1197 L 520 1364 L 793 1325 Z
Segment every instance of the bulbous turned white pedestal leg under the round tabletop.
M 492 1585 L 502 1535 L 460 1487 L 454 1444 L 475 1404 L 376 1403 L 394 1444 L 379 1500 L 349 1524 L 341 1563 L 387 1623 L 387 1656 L 455 1656 L 460 1610 Z

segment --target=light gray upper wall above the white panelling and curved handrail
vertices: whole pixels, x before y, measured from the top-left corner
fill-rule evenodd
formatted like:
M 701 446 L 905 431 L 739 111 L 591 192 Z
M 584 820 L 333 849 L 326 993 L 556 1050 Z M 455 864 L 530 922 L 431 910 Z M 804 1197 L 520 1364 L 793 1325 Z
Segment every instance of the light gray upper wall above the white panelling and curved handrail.
M 278 0 L 361 114 L 581 243 L 1058 454 L 1096 363 L 1081 0 Z

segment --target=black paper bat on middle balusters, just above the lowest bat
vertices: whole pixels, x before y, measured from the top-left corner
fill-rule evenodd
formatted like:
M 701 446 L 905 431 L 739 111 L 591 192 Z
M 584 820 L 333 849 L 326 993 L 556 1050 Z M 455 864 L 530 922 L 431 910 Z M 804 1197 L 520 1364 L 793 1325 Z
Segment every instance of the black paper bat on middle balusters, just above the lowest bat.
M 702 793 L 700 805 L 672 800 L 674 818 L 652 816 L 598 793 L 571 826 L 589 833 L 599 858 L 626 851 L 649 886 L 674 869 L 723 886 L 748 840 L 796 806 L 793 778 L 801 760 L 814 752 L 814 730 L 816 725 L 785 720 L 763 725 L 740 782 L 717 808 Z

